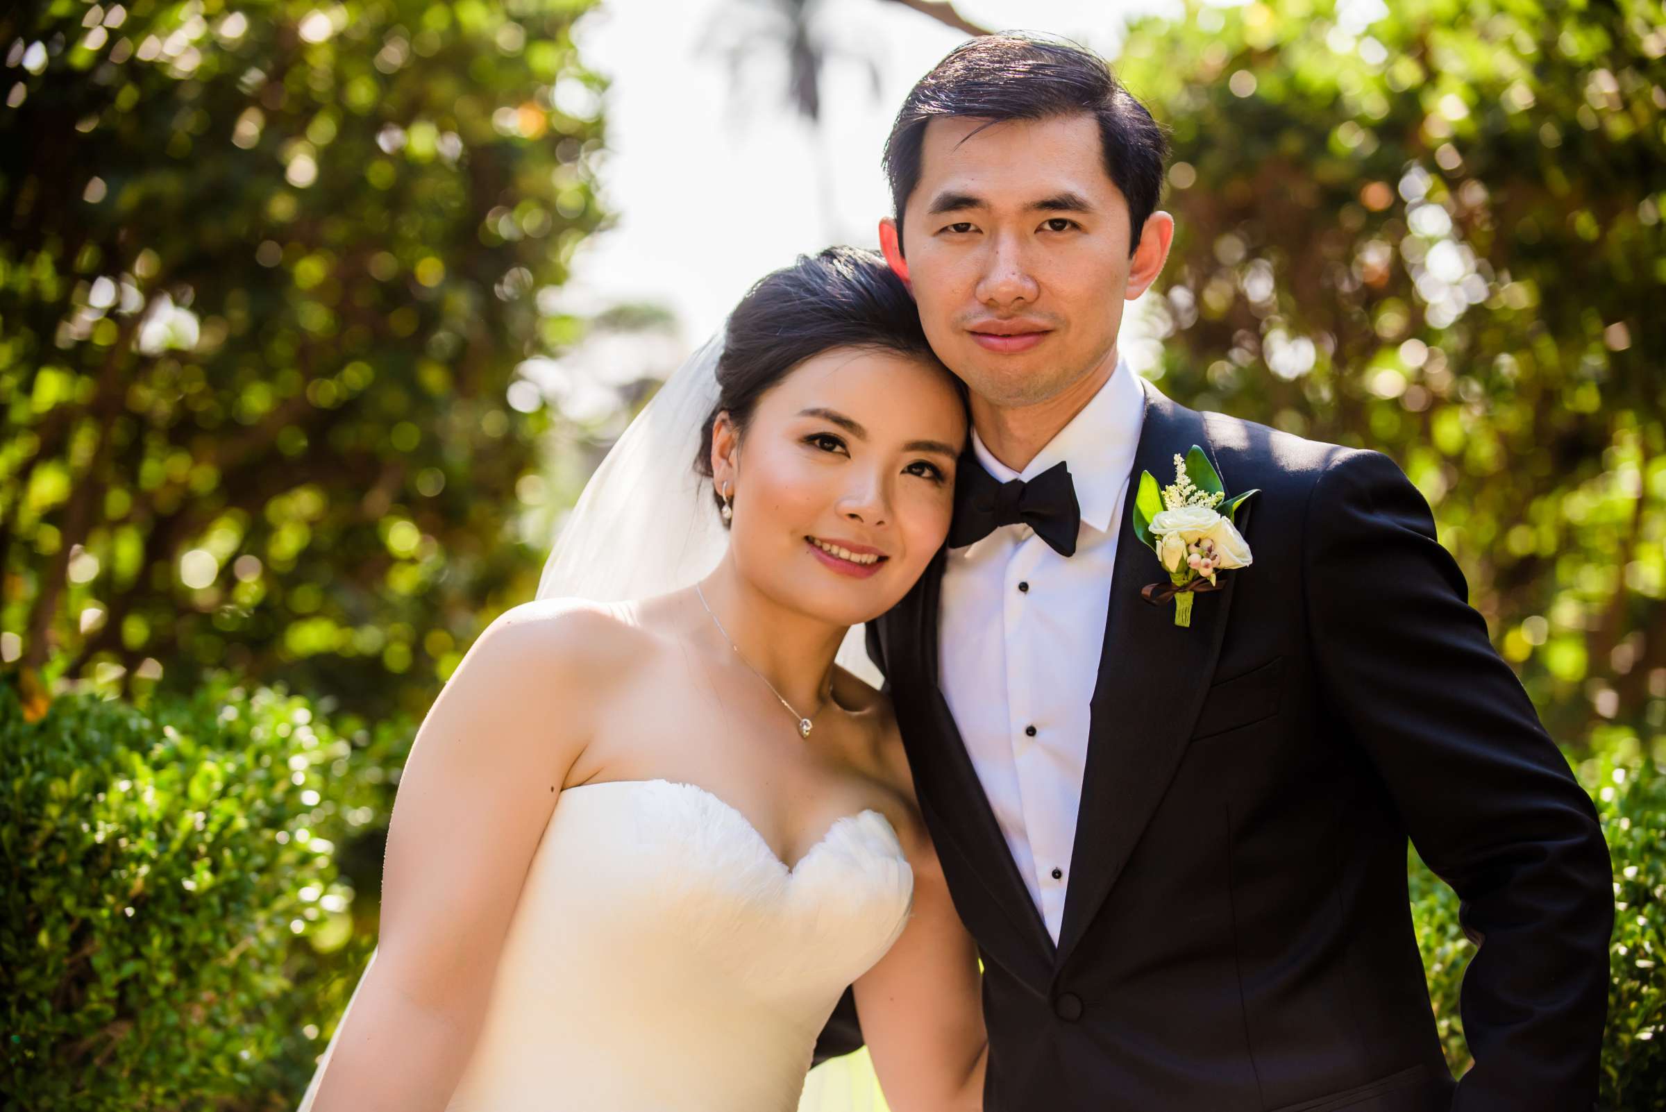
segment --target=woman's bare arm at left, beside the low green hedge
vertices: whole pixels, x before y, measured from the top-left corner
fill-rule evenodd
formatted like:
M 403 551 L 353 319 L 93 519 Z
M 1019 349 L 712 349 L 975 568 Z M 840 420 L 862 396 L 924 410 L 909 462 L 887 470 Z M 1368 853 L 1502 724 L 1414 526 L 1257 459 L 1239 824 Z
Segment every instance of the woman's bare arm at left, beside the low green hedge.
M 608 683 L 598 668 L 608 654 L 595 651 L 606 626 L 601 614 L 556 603 L 516 606 L 480 634 L 440 691 L 393 802 L 377 959 L 313 1112 L 448 1104 L 531 854 Z

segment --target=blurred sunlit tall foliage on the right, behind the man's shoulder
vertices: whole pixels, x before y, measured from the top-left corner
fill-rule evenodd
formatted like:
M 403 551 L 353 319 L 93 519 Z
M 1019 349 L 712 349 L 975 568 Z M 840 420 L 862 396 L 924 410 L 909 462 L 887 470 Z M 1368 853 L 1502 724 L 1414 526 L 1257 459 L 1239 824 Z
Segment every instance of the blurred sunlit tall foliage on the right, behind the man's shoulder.
M 1666 726 L 1666 5 L 1136 23 L 1168 393 L 1391 453 L 1558 739 Z

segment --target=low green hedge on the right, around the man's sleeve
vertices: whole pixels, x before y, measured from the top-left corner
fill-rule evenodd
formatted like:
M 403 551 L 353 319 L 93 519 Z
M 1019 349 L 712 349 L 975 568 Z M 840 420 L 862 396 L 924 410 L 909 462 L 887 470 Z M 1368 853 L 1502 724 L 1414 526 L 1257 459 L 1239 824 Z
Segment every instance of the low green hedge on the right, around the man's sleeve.
M 1579 779 L 1596 801 L 1614 866 L 1614 934 L 1608 951 L 1608 1029 L 1603 1040 L 1604 1112 L 1666 1109 L 1666 776 L 1634 737 L 1598 737 Z M 1469 1069 L 1458 1015 L 1463 971 L 1474 954 L 1458 922 L 1458 896 L 1413 854 L 1411 897 L 1418 946 L 1446 1060 Z

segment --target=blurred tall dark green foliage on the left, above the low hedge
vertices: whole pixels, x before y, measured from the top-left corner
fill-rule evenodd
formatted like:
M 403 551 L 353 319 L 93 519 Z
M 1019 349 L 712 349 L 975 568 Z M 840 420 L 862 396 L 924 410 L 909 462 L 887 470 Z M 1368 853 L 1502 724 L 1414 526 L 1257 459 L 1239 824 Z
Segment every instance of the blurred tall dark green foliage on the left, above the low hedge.
M 505 391 L 603 220 L 586 7 L 0 13 L 0 658 L 431 697 L 416 631 L 523 586 L 550 415 Z

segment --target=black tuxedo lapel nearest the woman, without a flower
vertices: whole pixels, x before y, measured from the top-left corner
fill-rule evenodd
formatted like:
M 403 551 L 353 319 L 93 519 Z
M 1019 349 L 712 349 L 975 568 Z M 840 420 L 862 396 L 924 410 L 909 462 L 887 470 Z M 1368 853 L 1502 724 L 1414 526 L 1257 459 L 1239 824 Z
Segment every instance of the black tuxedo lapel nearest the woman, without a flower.
M 1041 921 L 1041 912 L 1030 899 L 1030 889 L 1018 872 L 1018 864 L 1006 846 L 1006 836 L 995 819 L 983 782 L 971 764 L 971 756 L 961 741 L 955 714 L 938 684 L 938 628 L 946 549 L 926 569 L 915 591 L 886 618 L 891 623 L 895 653 L 891 673 L 906 673 L 905 684 L 895 684 L 898 696 L 916 699 L 916 711 L 930 714 L 930 729 L 915 734 L 905 729 L 908 761 L 915 776 L 920 802 L 936 817 L 933 834 L 946 832 L 953 846 L 940 847 L 958 852 L 970 862 L 990 902 L 998 909 L 1015 932 L 1020 951 L 1005 954 L 1015 974 L 1030 974 L 1045 987 L 1046 969 L 1051 964 L 1053 937 Z M 900 676 L 896 676 L 900 678 Z M 901 714 L 901 707 L 898 707 Z M 968 892 L 958 891 L 956 899 Z M 988 937 L 978 942 L 996 951 Z

